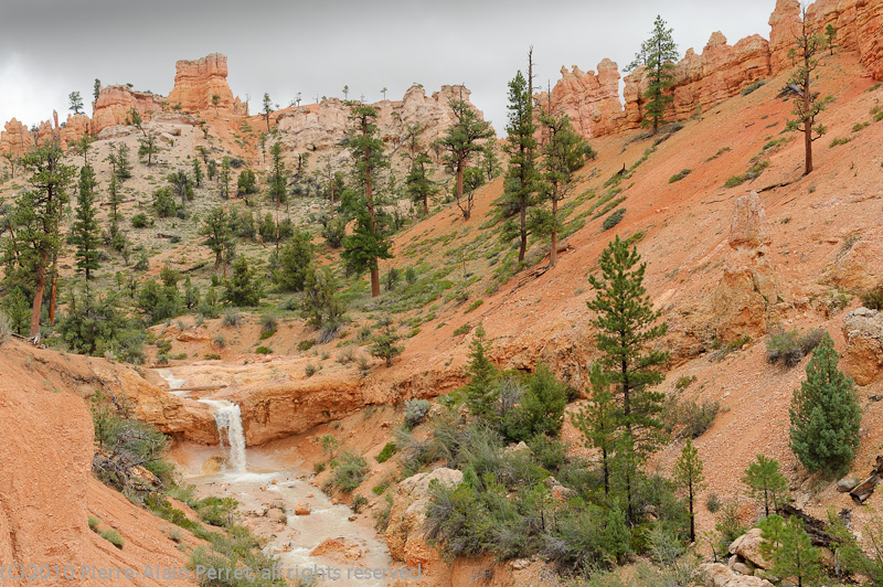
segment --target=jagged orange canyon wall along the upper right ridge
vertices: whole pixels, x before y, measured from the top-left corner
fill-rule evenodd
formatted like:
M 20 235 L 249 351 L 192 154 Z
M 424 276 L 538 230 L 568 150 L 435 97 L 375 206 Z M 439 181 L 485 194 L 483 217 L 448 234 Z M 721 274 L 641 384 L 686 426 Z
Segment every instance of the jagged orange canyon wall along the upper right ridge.
M 828 24 L 837 30 L 836 51 L 854 52 L 875 79 L 883 79 L 883 0 L 818 0 L 807 10 L 809 30 L 821 33 Z M 757 79 L 791 67 L 788 52 L 801 30 L 798 0 L 778 0 L 769 17 L 769 41 L 755 34 L 730 45 L 715 32 L 701 54 L 687 50 L 672 73 L 672 103 L 666 118 L 685 120 L 703 109 L 735 96 Z M 642 95 L 648 81 L 642 67 L 625 77 L 623 102 L 618 95 L 619 70 L 604 60 L 598 73 L 562 68 L 552 89 L 552 108 L 567 114 L 584 137 L 599 137 L 638 128 Z M 541 106 L 547 96 L 536 96 Z

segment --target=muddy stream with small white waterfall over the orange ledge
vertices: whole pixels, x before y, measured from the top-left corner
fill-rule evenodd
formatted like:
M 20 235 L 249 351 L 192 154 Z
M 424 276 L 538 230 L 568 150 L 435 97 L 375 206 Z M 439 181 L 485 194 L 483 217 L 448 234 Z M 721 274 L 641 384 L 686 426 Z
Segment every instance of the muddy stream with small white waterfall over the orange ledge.
M 181 389 L 187 378 L 175 376 L 174 369 L 156 372 L 168 382 L 169 393 L 188 396 L 189 392 Z M 270 537 L 264 552 L 279 558 L 284 576 L 313 578 L 312 585 L 334 587 L 392 583 L 390 574 L 401 573 L 402 565 L 390 557 L 385 542 L 373 529 L 350 521 L 349 506 L 334 505 L 320 489 L 308 483 L 311 472 L 307 463 L 299 461 L 297 455 L 247 449 L 238 405 L 220 398 L 198 401 L 210 406 L 222 445 L 184 444 L 177 447 L 173 460 L 200 497 L 235 498 L 240 512 L 249 517 L 262 516 L 272 506 L 285 512 L 283 530 L 276 525 L 274 531 L 256 531 Z M 299 468 L 291 468 L 291 462 L 300 462 Z M 295 514 L 299 502 L 310 506 L 308 515 Z M 328 538 L 344 538 L 345 548 L 327 556 L 310 554 Z M 384 578 L 379 578 L 381 574 Z

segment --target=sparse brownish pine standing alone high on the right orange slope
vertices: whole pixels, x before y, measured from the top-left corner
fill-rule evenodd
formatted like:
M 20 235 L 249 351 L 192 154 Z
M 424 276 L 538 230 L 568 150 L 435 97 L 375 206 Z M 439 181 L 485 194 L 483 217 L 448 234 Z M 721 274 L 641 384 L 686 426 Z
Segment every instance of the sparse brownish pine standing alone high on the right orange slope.
M 797 47 L 791 49 L 789 55 L 799 65 L 788 78 L 788 87 L 796 87 L 794 92 L 794 109 L 791 114 L 795 118 L 786 122 L 787 130 L 799 130 L 804 134 L 805 167 L 804 175 L 812 172 L 812 142 L 828 130 L 823 125 L 816 124 L 819 116 L 833 99 L 831 96 L 820 98 L 818 93 L 812 92 L 812 82 L 817 79 L 816 70 L 819 68 L 818 54 L 825 51 L 826 40 L 820 34 L 813 34 L 807 28 L 807 11 L 802 8 L 802 21 L 800 33 L 795 36 Z M 813 134 L 816 135 L 813 137 Z

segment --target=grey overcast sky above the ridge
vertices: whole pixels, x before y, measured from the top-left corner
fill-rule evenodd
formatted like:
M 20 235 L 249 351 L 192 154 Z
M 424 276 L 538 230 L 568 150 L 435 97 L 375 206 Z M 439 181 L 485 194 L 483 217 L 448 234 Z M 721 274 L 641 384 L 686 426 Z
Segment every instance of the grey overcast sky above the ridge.
M 562 65 L 625 66 L 661 13 L 678 49 L 699 53 L 714 31 L 731 44 L 769 35 L 775 0 L 0 0 L 0 125 L 67 115 L 67 94 L 88 105 L 105 85 L 168 95 L 174 62 L 228 57 L 227 81 L 252 113 L 264 92 L 281 107 L 316 96 L 401 98 L 465 83 L 502 135 L 507 83 L 534 46 L 536 83 Z M 89 106 L 87 114 L 92 114 Z

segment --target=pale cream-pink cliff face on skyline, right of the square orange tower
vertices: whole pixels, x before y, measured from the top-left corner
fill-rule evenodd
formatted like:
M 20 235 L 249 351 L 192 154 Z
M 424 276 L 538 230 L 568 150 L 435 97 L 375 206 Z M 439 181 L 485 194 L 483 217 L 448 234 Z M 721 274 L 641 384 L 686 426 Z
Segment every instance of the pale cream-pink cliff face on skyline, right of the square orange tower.
M 419 124 L 418 141 L 422 148 L 427 149 L 455 121 L 448 100 L 469 102 L 469 95 L 464 86 L 442 86 L 439 92 L 427 96 L 423 87 L 414 85 L 401 100 L 382 100 L 370 106 L 377 110 L 380 136 L 387 145 L 398 146 L 407 125 Z M 276 116 L 277 126 L 283 131 L 283 148 L 300 153 L 330 149 L 347 134 L 349 115 L 349 106 L 339 98 L 284 110 Z

